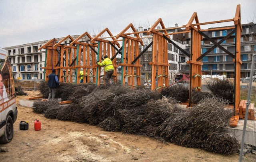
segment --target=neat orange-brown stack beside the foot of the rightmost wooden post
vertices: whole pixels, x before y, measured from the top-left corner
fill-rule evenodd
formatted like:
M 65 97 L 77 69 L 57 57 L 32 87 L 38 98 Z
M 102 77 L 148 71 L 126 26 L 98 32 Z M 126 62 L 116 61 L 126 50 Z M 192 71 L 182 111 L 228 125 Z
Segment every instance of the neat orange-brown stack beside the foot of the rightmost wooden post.
M 241 100 L 239 103 L 239 119 L 244 119 L 245 118 L 245 112 L 246 112 L 246 100 Z M 256 111 L 254 109 L 254 103 L 251 103 L 249 105 L 248 109 L 248 120 L 253 120 L 256 121 Z

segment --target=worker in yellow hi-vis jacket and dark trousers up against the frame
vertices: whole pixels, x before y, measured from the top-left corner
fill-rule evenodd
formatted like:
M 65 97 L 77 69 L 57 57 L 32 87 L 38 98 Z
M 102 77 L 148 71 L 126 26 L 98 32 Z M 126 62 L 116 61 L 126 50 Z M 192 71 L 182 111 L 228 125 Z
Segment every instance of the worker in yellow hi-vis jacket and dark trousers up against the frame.
M 113 73 L 114 73 L 114 66 L 113 63 L 111 61 L 111 59 L 108 58 L 107 55 L 104 56 L 104 60 L 100 63 L 99 61 L 97 61 L 97 64 L 99 66 L 104 66 L 104 71 L 105 71 L 105 84 L 107 87 L 110 86 L 110 78 L 112 77 Z

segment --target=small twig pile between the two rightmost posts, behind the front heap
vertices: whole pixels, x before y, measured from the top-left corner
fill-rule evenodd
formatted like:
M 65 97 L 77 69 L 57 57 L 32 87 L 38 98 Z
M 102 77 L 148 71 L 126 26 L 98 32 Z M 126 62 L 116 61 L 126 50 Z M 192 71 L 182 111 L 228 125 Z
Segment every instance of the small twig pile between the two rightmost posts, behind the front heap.
M 220 98 L 227 100 L 227 103 L 234 103 L 234 82 L 229 79 L 213 79 L 206 81 L 206 87 Z

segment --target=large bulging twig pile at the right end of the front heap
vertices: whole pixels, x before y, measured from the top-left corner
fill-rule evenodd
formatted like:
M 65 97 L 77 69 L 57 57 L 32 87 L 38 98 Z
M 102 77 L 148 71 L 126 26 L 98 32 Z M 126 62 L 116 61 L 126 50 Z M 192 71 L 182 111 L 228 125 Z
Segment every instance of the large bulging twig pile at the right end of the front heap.
M 231 109 L 224 109 L 225 103 L 212 97 L 200 101 L 187 113 L 173 114 L 159 127 L 160 136 L 181 146 L 220 154 L 237 152 L 239 142 L 225 130 L 233 114 Z

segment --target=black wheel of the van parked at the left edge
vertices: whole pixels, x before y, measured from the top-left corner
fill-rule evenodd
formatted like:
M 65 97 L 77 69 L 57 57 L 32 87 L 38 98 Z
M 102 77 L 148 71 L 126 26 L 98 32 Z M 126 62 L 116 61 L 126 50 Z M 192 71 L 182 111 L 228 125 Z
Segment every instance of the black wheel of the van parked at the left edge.
M 0 143 L 8 143 L 13 137 L 13 121 L 12 117 L 8 115 L 6 119 L 6 128 L 4 134 L 0 137 Z

